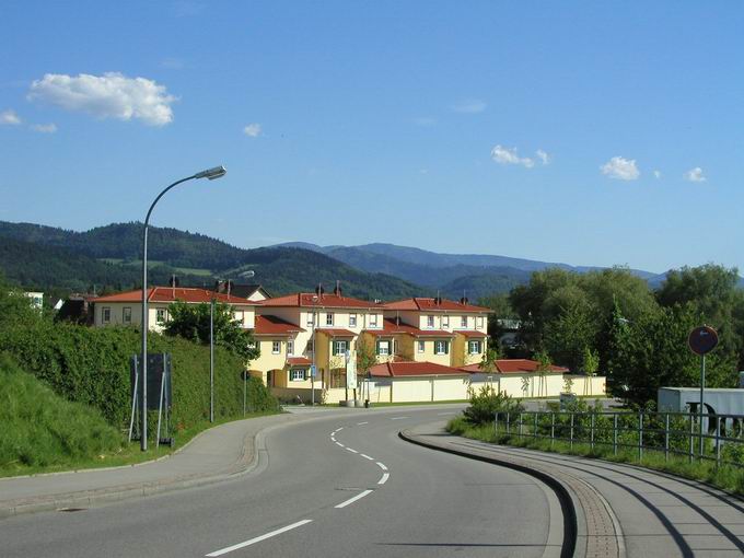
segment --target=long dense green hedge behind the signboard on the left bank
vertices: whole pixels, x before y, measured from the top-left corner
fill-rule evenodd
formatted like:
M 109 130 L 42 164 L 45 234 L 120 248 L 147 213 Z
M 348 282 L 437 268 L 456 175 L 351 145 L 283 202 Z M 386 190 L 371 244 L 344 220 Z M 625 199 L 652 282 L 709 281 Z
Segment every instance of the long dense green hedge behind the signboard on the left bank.
M 113 426 L 128 427 L 130 412 L 129 359 L 139 352 L 133 327 L 92 328 L 48 319 L 0 327 L 0 349 L 46 382 L 57 394 L 97 408 Z M 209 347 L 177 337 L 151 334 L 149 352 L 173 358 L 173 423 L 177 430 L 209 418 Z M 214 353 L 214 417 L 237 418 L 243 412 L 240 359 L 222 348 Z M 249 411 L 278 410 L 277 400 L 260 381 L 248 380 Z M 154 427 L 154 421 L 150 425 Z

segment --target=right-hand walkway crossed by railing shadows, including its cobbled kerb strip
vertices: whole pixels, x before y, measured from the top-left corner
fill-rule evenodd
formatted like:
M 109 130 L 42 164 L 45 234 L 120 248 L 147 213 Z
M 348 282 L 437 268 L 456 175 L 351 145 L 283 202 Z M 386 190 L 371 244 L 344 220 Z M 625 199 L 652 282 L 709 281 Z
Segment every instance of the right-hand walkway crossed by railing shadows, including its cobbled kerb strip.
M 744 554 L 744 501 L 721 490 L 631 465 L 468 440 L 443 427 L 431 423 L 403 434 L 444 451 L 538 469 L 563 484 L 577 509 L 574 556 Z

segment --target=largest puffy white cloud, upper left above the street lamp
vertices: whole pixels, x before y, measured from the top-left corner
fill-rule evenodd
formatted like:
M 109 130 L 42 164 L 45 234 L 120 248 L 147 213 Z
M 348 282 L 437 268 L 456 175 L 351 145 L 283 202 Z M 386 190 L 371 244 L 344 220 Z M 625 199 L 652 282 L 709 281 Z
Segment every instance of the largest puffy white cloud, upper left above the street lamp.
M 137 118 L 150 126 L 172 123 L 171 103 L 176 101 L 167 94 L 164 85 L 146 78 L 127 78 L 118 72 L 103 75 L 81 73 L 77 77 L 47 73 L 31 84 L 28 98 L 97 118 Z

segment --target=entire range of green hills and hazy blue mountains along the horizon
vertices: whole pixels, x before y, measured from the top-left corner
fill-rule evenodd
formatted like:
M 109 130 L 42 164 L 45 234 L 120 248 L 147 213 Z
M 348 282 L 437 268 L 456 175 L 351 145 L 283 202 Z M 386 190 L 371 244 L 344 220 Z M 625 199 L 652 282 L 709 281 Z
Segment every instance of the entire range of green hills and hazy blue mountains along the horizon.
M 113 223 L 84 232 L 0 221 L 0 269 L 27 288 L 98 291 L 133 288 L 140 281 L 141 223 Z M 433 295 L 470 300 L 508 292 L 533 271 L 558 267 L 586 272 L 597 267 L 487 254 L 441 254 L 395 244 L 319 246 L 291 242 L 246 249 L 210 236 L 151 226 L 148 253 L 153 283 L 177 275 L 181 284 L 211 286 L 217 278 L 252 281 L 274 294 L 332 289 L 362 299 Z M 658 286 L 664 274 L 631 270 Z

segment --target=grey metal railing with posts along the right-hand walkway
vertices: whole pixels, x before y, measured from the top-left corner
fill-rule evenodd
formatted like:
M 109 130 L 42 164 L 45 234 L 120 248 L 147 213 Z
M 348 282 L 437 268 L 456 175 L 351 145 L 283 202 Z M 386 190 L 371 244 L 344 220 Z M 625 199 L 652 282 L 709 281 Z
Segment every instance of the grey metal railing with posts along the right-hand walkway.
M 702 420 L 702 434 L 699 421 Z M 613 412 L 613 411 L 522 411 L 496 412 L 493 432 L 518 438 L 533 438 L 613 447 L 638 452 L 652 451 L 714 461 L 716 466 L 744 467 L 744 415 L 694 412 Z M 702 443 L 700 443 L 702 438 Z M 699 451 L 702 447 L 702 452 Z M 696 449 L 698 450 L 696 452 Z

